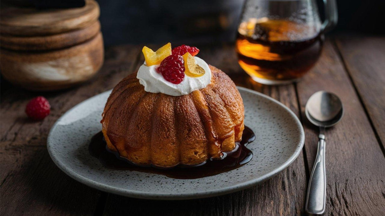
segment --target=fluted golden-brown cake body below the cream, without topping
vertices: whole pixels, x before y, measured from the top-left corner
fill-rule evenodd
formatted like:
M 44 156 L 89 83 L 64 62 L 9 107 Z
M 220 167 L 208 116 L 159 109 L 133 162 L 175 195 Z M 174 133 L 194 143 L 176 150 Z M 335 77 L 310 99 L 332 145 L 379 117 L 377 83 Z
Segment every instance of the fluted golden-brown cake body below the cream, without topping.
M 244 129 L 242 98 L 228 75 L 209 67 L 206 88 L 177 97 L 146 92 L 136 73 L 121 80 L 101 121 L 108 147 L 159 167 L 199 164 L 233 150 Z

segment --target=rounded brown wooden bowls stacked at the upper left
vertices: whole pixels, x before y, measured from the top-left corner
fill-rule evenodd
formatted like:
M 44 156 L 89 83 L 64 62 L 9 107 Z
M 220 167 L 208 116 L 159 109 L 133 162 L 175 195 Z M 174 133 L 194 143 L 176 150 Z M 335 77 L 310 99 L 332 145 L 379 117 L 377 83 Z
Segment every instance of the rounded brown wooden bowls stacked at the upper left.
M 2 7 L 1 74 L 30 90 L 68 88 L 91 78 L 103 65 L 99 5 L 38 10 Z

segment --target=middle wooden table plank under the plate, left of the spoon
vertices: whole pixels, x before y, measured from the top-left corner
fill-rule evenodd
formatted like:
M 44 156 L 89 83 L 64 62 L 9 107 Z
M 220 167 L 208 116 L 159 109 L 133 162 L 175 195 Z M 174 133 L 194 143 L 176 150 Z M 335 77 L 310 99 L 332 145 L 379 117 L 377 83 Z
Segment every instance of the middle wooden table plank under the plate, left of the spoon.
M 294 85 L 268 87 L 252 81 L 238 66 L 233 46 L 199 48 L 202 59 L 230 73 L 237 85 L 268 94 L 296 114 L 300 113 Z M 143 59 L 139 61 L 140 64 L 142 62 Z M 282 173 L 249 189 L 188 201 L 140 200 L 109 194 L 104 215 L 300 215 L 305 203 L 306 185 L 304 156 L 301 153 Z

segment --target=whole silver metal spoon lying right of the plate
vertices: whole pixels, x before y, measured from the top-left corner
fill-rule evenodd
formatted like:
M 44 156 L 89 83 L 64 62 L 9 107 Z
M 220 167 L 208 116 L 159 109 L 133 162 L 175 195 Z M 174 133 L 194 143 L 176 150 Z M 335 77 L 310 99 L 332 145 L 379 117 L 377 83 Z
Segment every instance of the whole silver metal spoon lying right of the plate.
M 326 203 L 325 128 L 342 119 L 344 107 L 337 95 L 319 91 L 309 98 L 305 113 L 311 123 L 319 126 L 318 151 L 310 175 L 305 211 L 309 214 L 323 214 Z

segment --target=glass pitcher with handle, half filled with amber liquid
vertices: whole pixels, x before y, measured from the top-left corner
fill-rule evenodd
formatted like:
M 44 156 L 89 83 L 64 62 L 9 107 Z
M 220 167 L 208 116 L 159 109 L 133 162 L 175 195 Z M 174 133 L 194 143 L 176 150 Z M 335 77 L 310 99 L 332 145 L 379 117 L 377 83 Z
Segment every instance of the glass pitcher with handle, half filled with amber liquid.
M 235 42 L 238 63 L 255 81 L 274 85 L 301 78 L 318 60 L 323 34 L 337 24 L 336 0 L 246 0 Z

